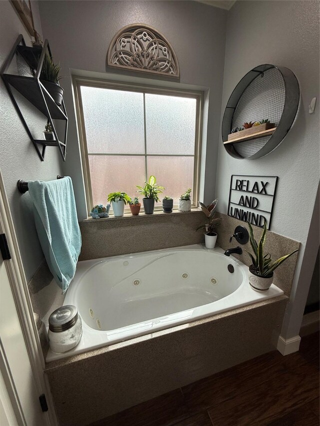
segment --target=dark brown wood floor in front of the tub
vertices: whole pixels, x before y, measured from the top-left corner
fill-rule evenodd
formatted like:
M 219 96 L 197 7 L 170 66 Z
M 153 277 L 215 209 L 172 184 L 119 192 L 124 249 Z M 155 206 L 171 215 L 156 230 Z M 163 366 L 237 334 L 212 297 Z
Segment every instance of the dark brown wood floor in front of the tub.
M 319 333 L 89 426 L 319 425 Z

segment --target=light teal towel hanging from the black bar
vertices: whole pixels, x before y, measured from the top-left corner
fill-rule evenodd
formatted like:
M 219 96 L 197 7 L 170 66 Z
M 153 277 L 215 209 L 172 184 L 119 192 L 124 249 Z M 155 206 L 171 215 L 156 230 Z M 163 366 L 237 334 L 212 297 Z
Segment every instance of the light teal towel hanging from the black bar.
M 74 277 L 81 249 L 71 178 L 28 183 L 35 226 L 48 267 L 62 293 Z

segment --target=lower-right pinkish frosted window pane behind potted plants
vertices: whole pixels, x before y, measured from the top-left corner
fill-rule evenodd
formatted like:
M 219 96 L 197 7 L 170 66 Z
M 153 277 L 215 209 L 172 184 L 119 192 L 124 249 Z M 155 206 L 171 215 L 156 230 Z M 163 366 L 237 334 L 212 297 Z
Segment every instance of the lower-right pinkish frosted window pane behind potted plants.
M 180 195 L 193 187 L 193 157 L 148 156 L 147 167 L 148 175 L 154 175 L 157 183 L 165 188 L 160 203 L 164 195 L 169 195 L 173 204 L 178 204 Z

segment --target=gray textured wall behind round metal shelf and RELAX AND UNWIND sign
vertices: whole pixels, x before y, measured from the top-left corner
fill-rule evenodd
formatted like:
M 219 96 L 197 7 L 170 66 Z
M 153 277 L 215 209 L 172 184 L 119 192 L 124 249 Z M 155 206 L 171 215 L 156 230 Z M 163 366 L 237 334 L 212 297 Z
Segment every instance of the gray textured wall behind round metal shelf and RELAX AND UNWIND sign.
M 310 282 L 300 277 L 298 284 L 298 279 L 319 181 L 318 1 L 237 1 L 234 4 L 227 20 L 222 114 L 237 82 L 262 63 L 283 65 L 295 73 L 301 91 L 297 119 L 281 144 L 257 160 L 232 158 L 219 136 L 215 193 L 219 197 L 219 209 L 226 213 L 231 174 L 279 176 L 271 230 L 302 243 L 281 333 L 288 339 L 299 333 Z M 314 96 L 317 104 L 310 115 L 308 105 Z M 306 254 L 312 269 L 317 247 L 318 242 L 314 247 L 312 244 Z

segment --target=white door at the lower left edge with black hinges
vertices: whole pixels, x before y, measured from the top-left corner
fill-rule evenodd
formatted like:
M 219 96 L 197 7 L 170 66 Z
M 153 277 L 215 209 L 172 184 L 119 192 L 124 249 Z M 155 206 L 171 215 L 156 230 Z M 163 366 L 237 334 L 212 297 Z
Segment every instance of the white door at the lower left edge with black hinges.
M 5 423 L 2 425 L 5 418 L 9 426 L 42 426 L 46 424 L 46 419 L 40 407 L 5 262 L 10 260 L 3 260 L 0 253 L 0 379 L 3 380 L 0 388 L 0 426 L 6 426 Z

